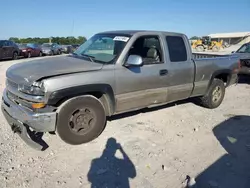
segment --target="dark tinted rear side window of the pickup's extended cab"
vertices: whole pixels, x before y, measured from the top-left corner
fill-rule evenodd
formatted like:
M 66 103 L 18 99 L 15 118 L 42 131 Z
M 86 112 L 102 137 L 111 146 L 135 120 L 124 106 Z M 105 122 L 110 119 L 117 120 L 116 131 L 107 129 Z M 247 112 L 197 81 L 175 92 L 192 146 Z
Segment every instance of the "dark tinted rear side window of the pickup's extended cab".
M 167 36 L 169 58 L 171 62 L 187 61 L 187 49 L 182 37 Z

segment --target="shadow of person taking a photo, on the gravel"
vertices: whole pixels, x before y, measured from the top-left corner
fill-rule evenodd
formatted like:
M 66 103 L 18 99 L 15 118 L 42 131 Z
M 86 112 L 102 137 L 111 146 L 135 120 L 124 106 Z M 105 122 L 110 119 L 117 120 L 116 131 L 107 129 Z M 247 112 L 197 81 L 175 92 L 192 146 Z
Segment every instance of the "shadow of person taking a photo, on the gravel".
M 115 156 L 117 151 L 122 154 L 122 158 Z M 136 169 L 116 139 L 109 138 L 102 155 L 92 160 L 87 176 L 92 188 L 129 188 L 129 178 L 136 177 Z

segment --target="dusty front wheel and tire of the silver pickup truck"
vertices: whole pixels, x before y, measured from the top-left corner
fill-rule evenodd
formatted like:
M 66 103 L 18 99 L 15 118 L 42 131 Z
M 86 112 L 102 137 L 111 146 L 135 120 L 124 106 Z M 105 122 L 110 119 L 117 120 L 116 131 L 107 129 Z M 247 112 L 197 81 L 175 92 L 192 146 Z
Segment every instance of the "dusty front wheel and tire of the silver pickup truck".
M 106 125 L 102 103 L 91 95 L 66 101 L 58 113 L 57 133 L 71 145 L 79 145 L 97 138 Z

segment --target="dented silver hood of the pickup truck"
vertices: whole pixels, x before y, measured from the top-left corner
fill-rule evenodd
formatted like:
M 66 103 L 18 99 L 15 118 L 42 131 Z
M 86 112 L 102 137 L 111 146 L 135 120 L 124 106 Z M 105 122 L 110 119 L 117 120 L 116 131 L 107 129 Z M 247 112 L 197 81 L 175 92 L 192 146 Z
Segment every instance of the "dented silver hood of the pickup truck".
M 102 66 L 79 56 L 50 57 L 12 65 L 6 77 L 18 84 L 32 84 L 46 77 L 100 70 Z

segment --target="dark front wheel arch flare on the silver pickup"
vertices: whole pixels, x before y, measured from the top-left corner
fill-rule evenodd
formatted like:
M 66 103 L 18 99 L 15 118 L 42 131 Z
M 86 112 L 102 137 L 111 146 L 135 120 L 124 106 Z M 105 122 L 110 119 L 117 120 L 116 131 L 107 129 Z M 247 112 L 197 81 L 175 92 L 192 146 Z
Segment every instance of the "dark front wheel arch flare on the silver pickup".
M 92 95 L 98 98 L 104 105 L 106 115 L 114 114 L 115 96 L 109 84 L 89 84 L 54 91 L 49 96 L 48 105 L 59 107 L 63 102 L 82 95 Z

